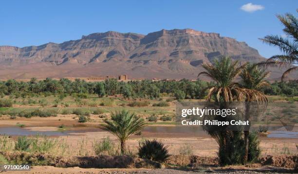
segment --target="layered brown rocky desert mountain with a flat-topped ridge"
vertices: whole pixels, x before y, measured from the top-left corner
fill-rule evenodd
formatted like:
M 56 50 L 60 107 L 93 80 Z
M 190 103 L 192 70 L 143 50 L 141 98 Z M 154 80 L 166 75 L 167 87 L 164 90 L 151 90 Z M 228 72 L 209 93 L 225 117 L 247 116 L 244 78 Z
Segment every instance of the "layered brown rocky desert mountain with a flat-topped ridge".
M 263 61 L 245 42 L 191 29 L 94 33 L 61 44 L 24 48 L 0 46 L 0 78 L 90 77 L 128 74 L 132 78 L 194 79 L 203 62 L 221 55 Z M 279 78 L 275 70 L 271 78 Z

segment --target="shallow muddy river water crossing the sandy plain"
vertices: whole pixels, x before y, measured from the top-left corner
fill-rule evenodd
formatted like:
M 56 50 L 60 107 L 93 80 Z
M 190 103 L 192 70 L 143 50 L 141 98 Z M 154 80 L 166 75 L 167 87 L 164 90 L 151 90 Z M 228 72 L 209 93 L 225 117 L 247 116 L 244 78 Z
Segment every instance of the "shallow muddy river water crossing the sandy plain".
M 0 134 L 12 136 L 32 136 L 32 135 L 46 135 L 46 136 L 68 136 L 74 133 L 85 132 L 101 132 L 100 128 L 92 129 L 72 129 L 66 131 L 33 131 L 19 127 L 0 127 Z M 170 137 L 206 137 L 208 136 L 202 128 L 196 126 L 147 126 L 143 129 L 144 133 L 151 136 L 158 136 L 159 134 L 168 135 Z M 72 134 L 71 134 L 72 133 Z M 288 138 L 298 139 L 298 132 L 291 131 L 269 131 L 268 138 Z

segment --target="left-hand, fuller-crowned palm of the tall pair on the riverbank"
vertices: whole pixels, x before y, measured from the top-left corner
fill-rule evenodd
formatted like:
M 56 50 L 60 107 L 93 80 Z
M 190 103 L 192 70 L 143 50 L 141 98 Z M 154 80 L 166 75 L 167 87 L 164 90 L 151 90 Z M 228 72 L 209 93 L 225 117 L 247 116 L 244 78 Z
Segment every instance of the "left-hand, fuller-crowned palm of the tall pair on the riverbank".
M 214 65 L 204 63 L 203 68 L 206 71 L 200 72 L 198 76 L 205 74 L 215 81 L 215 84 L 209 87 L 206 100 L 210 102 L 212 97 L 214 97 L 215 102 L 222 103 L 223 107 L 226 107 L 224 105 L 227 102 L 244 101 L 246 91 L 238 83 L 235 83 L 234 80 L 246 65 L 247 63 L 241 65 L 238 61 L 232 61 L 229 57 L 222 57 L 220 60 L 215 60 Z M 231 131 L 224 128 L 219 130 L 212 127 L 211 129 L 208 127 L 203 128 L 219 144 L 218 156 L 221 164 L 239 162 L 242 152 L 239 146 L 233 147 L 233 144 L 241 139 L 240 131 Z

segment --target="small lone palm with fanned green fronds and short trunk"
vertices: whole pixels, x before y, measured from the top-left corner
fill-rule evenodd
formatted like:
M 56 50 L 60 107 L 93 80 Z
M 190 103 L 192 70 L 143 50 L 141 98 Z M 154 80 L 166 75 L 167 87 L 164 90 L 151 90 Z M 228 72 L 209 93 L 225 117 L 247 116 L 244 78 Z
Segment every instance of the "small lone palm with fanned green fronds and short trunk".
M 121 154 L 124 155 L 125 141 L 130 135 L 140 131 L 146 125 L 146 122 L 134 113 L 130 114 L 127 110 L 112 113 L 111 119 L 112 121 L 104 120 L 103 127 L 119 139 Z

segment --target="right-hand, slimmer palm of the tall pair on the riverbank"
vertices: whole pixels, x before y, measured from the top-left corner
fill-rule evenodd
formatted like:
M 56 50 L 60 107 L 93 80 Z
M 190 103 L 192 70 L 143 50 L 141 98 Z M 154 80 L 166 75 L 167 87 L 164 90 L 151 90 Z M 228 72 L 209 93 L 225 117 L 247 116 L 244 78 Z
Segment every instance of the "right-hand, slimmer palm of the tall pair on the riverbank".
M 257 107 L 265 109 L 268 103 L 268 99 L 262 92 L 259 91 L 261 87 L 269 86 L 270 84 L 265 80 L 269 76 L 269 71 L 265 69 L 258 69 L 254 64 L 248 64 L 240 73 L 242 78 L 242 87 L 247 91 L 247 98 L 245 103 L 245 120 L 249 120 L 251 115 L 250 106 L 251 102 L 257 101 Z M 247 130 L 248 129 L 248 130 Z M 245 155 L 244 161 L 248 159 L 248 136 L 249 128 L 244 130 L 244 145 L 245 145 Z

